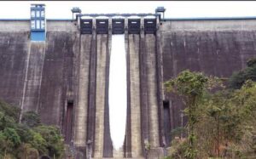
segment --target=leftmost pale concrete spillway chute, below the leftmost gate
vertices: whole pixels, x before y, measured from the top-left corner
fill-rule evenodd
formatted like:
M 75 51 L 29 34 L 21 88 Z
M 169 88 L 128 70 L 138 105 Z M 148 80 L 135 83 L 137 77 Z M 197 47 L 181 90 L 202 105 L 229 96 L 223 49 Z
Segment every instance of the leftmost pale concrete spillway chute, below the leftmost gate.
M 74 145 L 78 147 L 85 147 L 86 145 L 91 43 L 92 35 L 80 35 L 78 101 L 75 106 L 74 121 Z

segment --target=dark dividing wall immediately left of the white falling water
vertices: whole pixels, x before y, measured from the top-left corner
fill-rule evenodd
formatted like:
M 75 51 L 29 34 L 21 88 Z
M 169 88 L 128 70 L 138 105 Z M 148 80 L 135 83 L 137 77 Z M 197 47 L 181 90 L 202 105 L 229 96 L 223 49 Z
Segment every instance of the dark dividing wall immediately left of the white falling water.
M 108 87 L 109 87 L 109 65 L 112 43 L 112 19 L 108 19 L 108 42 L 106 52 L 106 86 L 105 86 L 105 110 L 104 110 L 104 143 L 103 143 L 103 157 L 113 156 L 113 145 L 110 137 L 109 125 L 109 105 L 108 105 Z

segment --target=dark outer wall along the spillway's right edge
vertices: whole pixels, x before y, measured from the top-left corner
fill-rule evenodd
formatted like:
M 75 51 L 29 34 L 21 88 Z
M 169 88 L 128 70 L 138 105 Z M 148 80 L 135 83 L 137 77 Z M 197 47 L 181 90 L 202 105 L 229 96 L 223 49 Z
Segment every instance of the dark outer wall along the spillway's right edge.
M 159 134 L 160 134 L 160 146 L 166 146 L 165 130 L 164 130 L 164 85 L 163 85 L 163 56 L 160 37 L 160 18 L 156 18 L 156 33 L 155 33 L 155 59 L 156 59 L 156 83 L 157 83 L 157 105 L 159 116 Z M 171 110 L 171 109 L 170 109 Z

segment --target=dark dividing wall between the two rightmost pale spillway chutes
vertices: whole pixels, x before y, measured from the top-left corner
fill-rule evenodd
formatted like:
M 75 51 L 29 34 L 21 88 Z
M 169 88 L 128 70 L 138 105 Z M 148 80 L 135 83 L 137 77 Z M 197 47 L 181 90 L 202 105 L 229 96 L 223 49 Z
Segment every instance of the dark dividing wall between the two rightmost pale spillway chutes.
M 139 67 L 140 67 L 140 97 L 141 97 L 141 131 L 143 154 L 146 155 L 145 147 L 149 144 L 149 122 L 148 122 L 148 82 L 147 82 L 147 52 L 145 50 L 144 19 L 141 18 Z

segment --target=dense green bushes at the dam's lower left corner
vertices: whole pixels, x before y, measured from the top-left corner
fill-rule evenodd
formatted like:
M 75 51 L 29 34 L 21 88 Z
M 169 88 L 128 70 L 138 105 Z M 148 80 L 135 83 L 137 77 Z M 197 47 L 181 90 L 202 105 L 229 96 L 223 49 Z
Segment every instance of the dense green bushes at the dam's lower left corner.
M 43 125 L 32 111 L 24 113 L 18 123 L 19 114 L 18 108 L 0 100 L 0 158 L 60 158 L 64 143 L 59 129 Z

